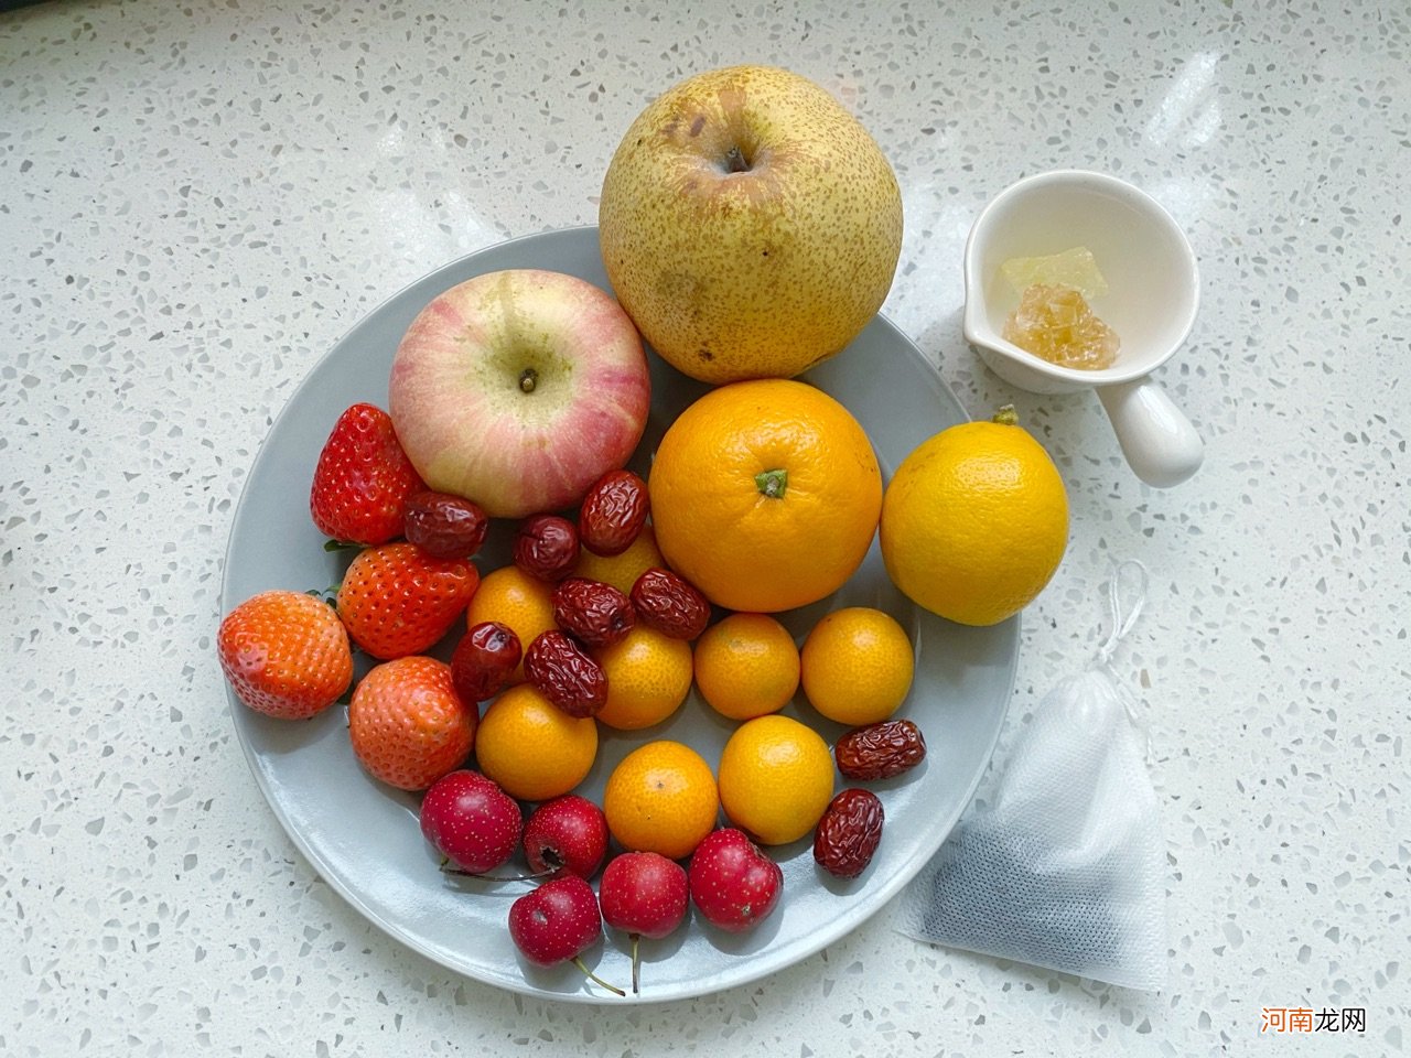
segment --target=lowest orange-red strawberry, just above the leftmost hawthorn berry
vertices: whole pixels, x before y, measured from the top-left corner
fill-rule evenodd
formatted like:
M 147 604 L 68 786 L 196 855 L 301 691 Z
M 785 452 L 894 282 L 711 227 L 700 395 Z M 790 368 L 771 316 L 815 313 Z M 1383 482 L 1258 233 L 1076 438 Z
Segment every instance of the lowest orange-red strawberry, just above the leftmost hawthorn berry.
M 454 772 L 476 745 L 477 721 L 450 666 L 420 655 L 374 666 L 349 705 L 353 753 L 398 790 L 425 790 Z

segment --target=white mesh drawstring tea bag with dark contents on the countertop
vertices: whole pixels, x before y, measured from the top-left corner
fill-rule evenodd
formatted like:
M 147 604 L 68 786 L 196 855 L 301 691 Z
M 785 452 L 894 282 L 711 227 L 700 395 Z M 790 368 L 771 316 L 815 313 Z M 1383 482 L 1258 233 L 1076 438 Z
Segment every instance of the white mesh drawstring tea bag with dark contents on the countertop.
M 1113 629 L 1064 679 L 904 890 L 899 930 L 921 941 L 1126 987 L 1165 983 L 1165 848 L 1147 732 L 1109 660 L 1146 595 L 1146 568 L 1112 576 Z

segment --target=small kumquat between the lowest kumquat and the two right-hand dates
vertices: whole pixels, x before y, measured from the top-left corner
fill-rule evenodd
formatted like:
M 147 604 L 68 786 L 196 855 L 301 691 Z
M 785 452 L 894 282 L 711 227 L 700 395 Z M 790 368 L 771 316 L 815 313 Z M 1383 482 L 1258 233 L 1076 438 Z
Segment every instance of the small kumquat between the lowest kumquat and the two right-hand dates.
M 832 800 L 832 753 L 817 731 L 789 717 L 741 724 L 720 755 L 720 803 L 761 845 L 809 834 Z

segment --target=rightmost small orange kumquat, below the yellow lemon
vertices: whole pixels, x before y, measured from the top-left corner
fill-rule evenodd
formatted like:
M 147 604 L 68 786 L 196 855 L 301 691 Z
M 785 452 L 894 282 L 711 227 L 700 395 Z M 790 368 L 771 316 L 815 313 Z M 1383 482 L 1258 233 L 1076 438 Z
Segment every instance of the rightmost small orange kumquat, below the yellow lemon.
M 906 629 L 871 607 L 825 615 L 803 640 L 799 657 L 804 695 L 824 717 L 849 726 L 896 712 L 916 667 Z

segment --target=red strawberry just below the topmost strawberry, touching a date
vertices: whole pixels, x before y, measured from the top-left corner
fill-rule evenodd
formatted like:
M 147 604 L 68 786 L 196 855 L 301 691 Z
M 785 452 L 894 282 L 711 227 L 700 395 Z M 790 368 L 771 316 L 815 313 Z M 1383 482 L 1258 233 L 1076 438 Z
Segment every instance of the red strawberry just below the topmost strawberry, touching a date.
M 405 657 L 440 642 L 478 587 L 468 559 L 433 559 L 413 543 L 384 543 L 360 552 L 343 574 L 339 616 L 373 657 Z

